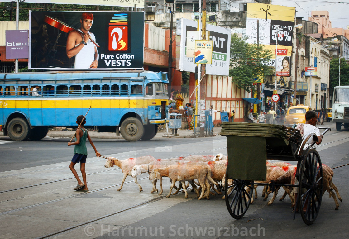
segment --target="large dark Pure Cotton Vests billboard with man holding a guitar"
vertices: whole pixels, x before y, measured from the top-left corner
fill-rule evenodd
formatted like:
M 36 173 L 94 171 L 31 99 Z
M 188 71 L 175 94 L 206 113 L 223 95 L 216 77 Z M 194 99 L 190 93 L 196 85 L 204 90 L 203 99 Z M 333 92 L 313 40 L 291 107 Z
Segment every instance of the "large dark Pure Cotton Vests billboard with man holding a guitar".
M 143 69 L 143 35 L 143 12 L 30 11 L 29 69 Z

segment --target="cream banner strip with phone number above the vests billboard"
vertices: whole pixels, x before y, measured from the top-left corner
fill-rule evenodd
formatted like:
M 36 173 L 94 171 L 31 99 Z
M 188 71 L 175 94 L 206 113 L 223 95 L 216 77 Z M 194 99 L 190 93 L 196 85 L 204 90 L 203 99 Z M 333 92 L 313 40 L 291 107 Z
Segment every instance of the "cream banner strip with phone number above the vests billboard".
M 9 0 L 0 0 L 0 2 L 9 2 Z M 25 0 L 25 2 L 144 8 L 144 1 L 141 0 Z

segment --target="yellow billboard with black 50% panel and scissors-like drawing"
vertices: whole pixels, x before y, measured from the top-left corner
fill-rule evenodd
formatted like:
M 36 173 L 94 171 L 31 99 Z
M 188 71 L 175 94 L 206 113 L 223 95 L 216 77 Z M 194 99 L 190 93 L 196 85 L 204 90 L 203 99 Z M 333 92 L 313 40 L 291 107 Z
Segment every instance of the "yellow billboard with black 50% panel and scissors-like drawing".
M 259 20 L 259 44 L 266 45 L 264 48 L 275 55 L 277 37 L 277 55 L 290 56 L 295 14 L 296 9 L 294 7 L 247 3 L 247 42 L 257 43 L 257 20 Z

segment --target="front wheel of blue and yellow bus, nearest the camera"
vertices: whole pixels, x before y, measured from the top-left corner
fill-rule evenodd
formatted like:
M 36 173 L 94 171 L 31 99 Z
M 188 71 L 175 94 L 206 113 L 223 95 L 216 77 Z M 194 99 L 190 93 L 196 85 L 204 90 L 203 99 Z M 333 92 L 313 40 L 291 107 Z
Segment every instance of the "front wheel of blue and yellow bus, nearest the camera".
M 125 140 L 134 142 L 141 139 L 144 129 L 143 124 L 139 119 L 129 117 L 122 121 L 120 131 Z

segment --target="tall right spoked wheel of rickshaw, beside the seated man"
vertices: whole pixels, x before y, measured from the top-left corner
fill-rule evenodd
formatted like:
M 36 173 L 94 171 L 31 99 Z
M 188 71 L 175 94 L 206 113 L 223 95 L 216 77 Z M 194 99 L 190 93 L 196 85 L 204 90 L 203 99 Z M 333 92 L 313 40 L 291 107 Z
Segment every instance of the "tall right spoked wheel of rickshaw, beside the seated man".
M 299 169 L 299 212 L 305 224 L 311 225 L 319 214 L 322 200 L 322 164 L 318 152 L 306 152 Z M 303 210 L 304 208 L 304 210 Z

